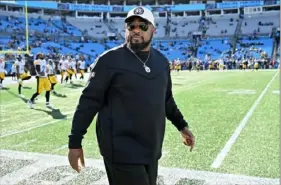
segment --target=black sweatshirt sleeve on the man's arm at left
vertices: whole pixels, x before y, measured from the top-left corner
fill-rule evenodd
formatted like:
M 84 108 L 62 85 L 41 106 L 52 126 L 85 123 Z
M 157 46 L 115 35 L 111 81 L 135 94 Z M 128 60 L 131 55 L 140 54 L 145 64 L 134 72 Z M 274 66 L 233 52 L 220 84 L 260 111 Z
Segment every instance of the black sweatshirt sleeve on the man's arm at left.
M 69 148 L 82 148 L 83 136 L 87 133 L 95 115 L 104 104 L 104 95 L 111 80 L 107 62 L 105 56 L 101 56 L 91 70 L 89 80 L 82 91 L 72 120 Z

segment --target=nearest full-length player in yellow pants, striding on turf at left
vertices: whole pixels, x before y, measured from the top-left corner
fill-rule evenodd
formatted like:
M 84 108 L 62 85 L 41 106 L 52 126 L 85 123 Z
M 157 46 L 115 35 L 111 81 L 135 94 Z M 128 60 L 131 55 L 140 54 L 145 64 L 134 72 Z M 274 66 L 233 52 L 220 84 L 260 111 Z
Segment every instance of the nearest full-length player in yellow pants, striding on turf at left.
M 36 78 L 37 78 L 37 91 L 32 95 L 31 99 L 27 101 L 29 108 L 33 109 L 35 98 L 42 93 L 45 89 L 46 94 L 46 107 L 54 110 L 54 106 L 50 104 L 50 91 L 51 91 L 51 83 L 48 79 L 49 69 L 47 68 L 47 62 L 42 53 L 38 53 L 36 56 L 36 60 L 34 61 L 34 66 L 36 70 Z

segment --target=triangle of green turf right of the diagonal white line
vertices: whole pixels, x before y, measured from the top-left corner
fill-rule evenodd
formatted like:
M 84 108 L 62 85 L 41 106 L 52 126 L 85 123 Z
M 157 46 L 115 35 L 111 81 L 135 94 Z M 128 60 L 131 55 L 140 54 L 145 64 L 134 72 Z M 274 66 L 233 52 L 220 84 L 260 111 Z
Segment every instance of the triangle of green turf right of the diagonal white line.
M 280 176 L 280 95 L 272 92 L 280 89 L 279 84 L 278 75 L 225 159 L 223 171 Z

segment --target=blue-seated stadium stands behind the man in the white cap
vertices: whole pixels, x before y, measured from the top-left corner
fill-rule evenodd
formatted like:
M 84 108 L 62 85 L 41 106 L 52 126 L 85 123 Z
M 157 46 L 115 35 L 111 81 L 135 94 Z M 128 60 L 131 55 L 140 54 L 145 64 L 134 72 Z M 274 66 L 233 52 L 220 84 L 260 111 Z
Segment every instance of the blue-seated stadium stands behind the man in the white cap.
M 119 1 L 111 2 L 120 4 Z M 178 5 L 178 1 L 173 2 Z M 95 3 L 97 6 L 101 4 L 99 1 Z M 147 3 L 152 5 L 155 2 Z M 166 1 L 158 3 L 169 4 Z M 168 11 L 155 13 L 157 31 L 153 47 L 159 49 L 171 62 L 179 60 L 185 63 L 196 58 L 202 63 L 208 63 L 220 58 L 242 60 L 252 57 L 266 57 L 268 63 L 273 62 L 273 51 L 280 49 L 272 37 L 273 30 L 280 27 L 280 9 L 265 11 L 264 8 L 255 13 L 246 13 L 246 8 L 243 13 L 241 8 L 235 10 L 236 13 L 227 13 L 220 9 L 217 14 L 211 14 L 207 9 L 194 10 L 196 15 L 188 11 L 183 11 L 181 15 L 170 15 Z M 69 14 L 51 14 L 37 12 L 28 15 L 32 54 L 43 52 L 54 55 L 83 55 L 89 66 L 99 54 L 124 42 L 126 12 L 120 15 L 80 15 L 75 11 Z M 0 21 L 1 49 L 25 50 L 26 25 L 22 10 L 2 8 Z M 280 61 L 280 52 L 276 56 L 279 58 L 276 57 L 274 61 L 275 68 Z

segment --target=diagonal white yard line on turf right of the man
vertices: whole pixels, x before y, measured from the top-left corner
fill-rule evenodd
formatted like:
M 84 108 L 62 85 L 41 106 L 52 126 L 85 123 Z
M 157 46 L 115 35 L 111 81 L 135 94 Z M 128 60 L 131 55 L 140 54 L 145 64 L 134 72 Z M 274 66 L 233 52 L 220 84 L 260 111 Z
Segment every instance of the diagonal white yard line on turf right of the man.
M 255 101 L 255 103 L 252 105 L 250 110 L 247 112 L 247 114 L 245 115 L 243 120 L 240 122 L 238 127 L 235 129 L 234 133 L 232 134 L 230 139 L 227 141 L 227 143 L 225 144 L 224 148 L 220 151 L 220 153 L 217 155 L 216 159 L 212 163 L 212 165 L 211 165 L 212 168 L 219 168 L 221 166 L 224 158 L 227 156 L 227 154 L 230 151 L 232 145 L 235 143 L 235 141 L 239 137 L 240 133 L 242 132 L 242 130 L 246 126 L 248 120 L 253 115 L 254 110 L 260 104 L 262 98 L 264 97 L 265 93 L 267 92 L 267 90 L 269 89 L 270 85 L 272 84 L 272 82 L 274 81 L 274 79 L 276 78 L 277 75 L 278 75 L 278 72 L 272 77 L 272 79 L 267 84 L 267 86 L 264 88 L 264 90 L 262 91 L 262 93 L 260 94 L 258 99 Z

